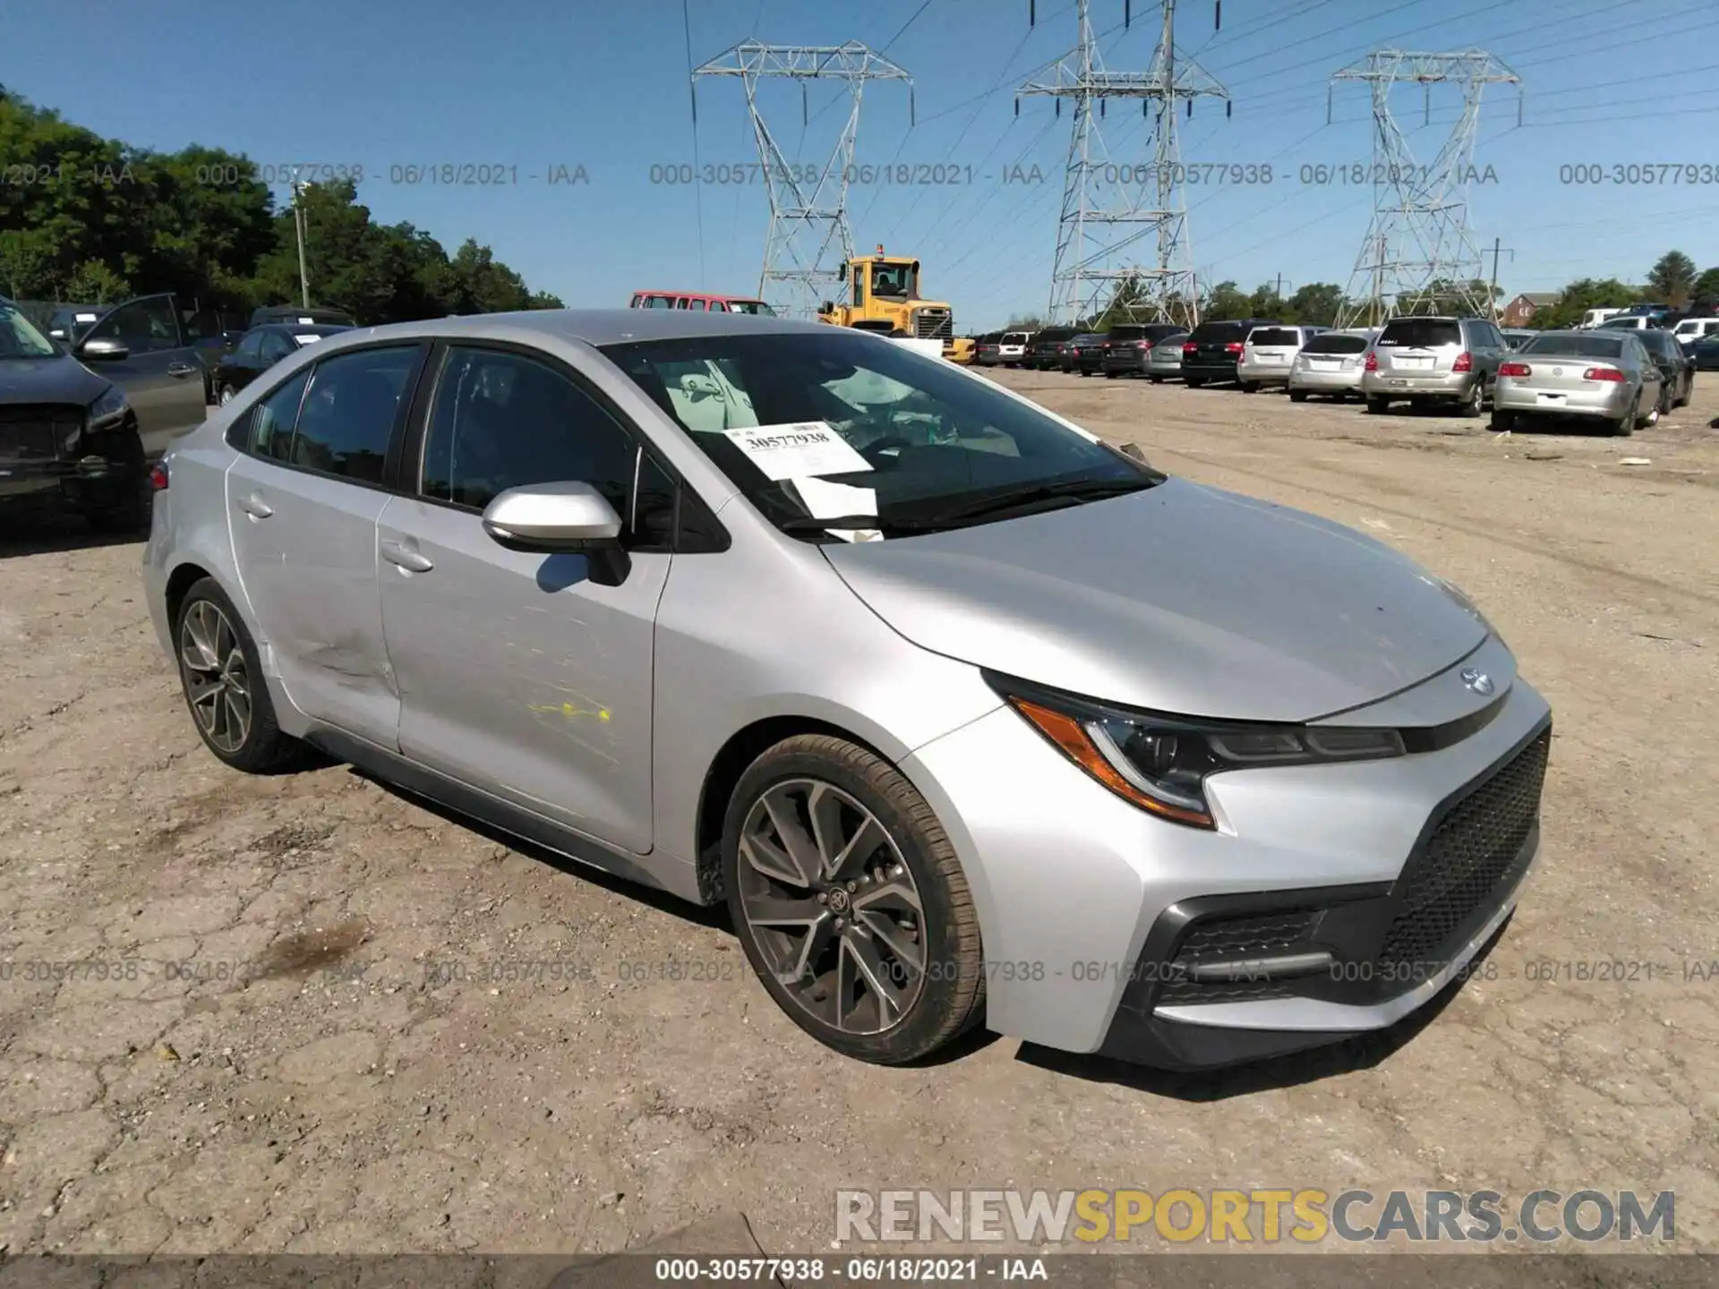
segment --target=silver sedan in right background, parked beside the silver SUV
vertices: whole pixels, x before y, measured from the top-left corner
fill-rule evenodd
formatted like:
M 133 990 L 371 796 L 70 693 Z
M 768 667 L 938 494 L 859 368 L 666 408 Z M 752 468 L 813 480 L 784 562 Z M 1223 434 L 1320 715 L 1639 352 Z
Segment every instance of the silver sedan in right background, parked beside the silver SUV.
M 1578 416 L 1633 435 L 1659 421 L 1664 376 L 1635 332 L 1545 332 L 1499 364 L 1492 428 Z

